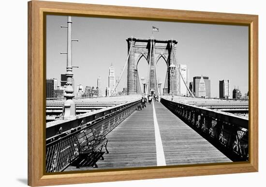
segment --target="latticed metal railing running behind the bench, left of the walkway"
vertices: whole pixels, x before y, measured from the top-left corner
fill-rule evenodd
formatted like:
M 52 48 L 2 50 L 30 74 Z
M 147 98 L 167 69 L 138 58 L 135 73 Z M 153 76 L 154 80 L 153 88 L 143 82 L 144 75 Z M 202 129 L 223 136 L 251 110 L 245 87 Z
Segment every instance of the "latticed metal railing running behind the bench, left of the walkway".
M 118 106 L 113 108 L 112 112 L 106 112 L 108 113 L 106 115 L 99 115 L 95 120 L 81 123 L 77 127 L 46 139 L 46 172 L 63 171 L 78 157 L 75 136 L 81 131 L 91 128 L 96 136 L 105 136 L 131 115 L 139 103 L 140 100 Z

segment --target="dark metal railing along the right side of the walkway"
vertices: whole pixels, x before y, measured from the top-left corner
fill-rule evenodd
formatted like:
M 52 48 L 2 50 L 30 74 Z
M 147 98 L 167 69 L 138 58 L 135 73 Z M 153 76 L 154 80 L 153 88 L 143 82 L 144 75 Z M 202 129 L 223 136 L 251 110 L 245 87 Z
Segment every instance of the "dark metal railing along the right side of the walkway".
M 163 98 L 161 102 L 233 161 L 249 160 L 247 118 Z

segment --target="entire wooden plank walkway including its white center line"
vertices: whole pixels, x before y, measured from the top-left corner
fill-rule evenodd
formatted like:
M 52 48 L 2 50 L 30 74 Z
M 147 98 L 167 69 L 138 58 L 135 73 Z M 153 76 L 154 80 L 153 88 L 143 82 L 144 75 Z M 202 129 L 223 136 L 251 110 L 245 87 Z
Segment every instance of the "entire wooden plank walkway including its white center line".
M 106 137 L 109 154 L 98 168 L 65 171 L 231 162 L 160 102 L 136 110 Z

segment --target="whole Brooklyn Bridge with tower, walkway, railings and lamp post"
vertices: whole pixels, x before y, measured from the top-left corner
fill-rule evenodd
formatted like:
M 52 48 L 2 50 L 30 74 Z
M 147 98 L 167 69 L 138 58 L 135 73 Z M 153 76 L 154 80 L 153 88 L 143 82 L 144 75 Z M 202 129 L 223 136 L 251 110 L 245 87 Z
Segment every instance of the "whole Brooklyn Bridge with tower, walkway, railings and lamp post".
M 128 38 L 127 94 L 78 98 L 69 32 L 65 98 L 46 99 L 46 172 L 249 159 L 249 101 L 195 97 L 180 74 L 176 40 Z M 137 71 L 142 58 L 149 66 L 143 90 Z M 166 93 L 161 93 L 156 68 L 161 58 L 167 65 Z M 180 94 L 180 82 L 186 96 Z M 153 99 L 144 105 L 148 95 Z

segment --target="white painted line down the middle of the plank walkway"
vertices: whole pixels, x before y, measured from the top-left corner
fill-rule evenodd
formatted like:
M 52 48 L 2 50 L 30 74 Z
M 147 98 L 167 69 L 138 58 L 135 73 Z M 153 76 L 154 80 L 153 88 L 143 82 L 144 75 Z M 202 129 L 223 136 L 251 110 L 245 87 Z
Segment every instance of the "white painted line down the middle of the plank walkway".
M 152 109 L 153 109 L 153 122 L 154 122 L 154 132 L 155 132 L 157 166 L 166 166 L 164 152 L 163 152 L 163 142 L 161 139 L 160 129 L 159 129 L 159 125 L 157 122 L 153 100 L 152 100 Z

